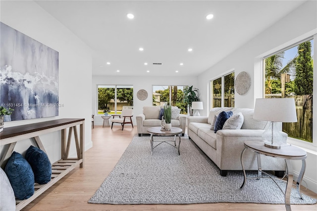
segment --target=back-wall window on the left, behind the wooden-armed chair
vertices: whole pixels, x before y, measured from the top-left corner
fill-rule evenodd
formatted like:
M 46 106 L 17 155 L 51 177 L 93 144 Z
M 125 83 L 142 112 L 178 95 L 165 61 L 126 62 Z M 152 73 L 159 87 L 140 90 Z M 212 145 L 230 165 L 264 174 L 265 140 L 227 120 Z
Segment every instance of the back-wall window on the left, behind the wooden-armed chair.
M 133 109 L 133 86 L 98 85 L 98 114 L 120 114 L 123 108 Z

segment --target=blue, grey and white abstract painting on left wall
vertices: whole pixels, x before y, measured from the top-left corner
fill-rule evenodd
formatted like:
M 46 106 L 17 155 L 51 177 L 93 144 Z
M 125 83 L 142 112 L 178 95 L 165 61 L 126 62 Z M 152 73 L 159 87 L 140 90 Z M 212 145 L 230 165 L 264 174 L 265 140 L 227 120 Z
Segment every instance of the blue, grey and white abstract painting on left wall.
M 0 22 L 0 106 L 4 121 L 58 116 L 58 52 Z

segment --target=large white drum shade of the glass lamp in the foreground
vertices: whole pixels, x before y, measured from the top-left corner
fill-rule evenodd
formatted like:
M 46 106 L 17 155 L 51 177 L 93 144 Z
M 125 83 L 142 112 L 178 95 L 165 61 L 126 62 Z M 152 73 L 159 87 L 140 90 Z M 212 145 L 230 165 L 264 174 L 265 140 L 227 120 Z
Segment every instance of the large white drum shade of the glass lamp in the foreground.
M 294 98 L 256 99 L 254 119 L 272 122 L 297 122 Z

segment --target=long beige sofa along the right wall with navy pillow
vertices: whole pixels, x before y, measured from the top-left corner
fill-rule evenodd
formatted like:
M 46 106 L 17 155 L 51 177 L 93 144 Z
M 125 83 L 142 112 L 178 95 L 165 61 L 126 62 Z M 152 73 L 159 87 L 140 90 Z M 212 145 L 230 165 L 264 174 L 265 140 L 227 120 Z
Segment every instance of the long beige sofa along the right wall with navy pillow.
M 214 133 L 211 129 L 214 115 L 230 110 L 233 114 L 242 113 L 244 120 L 241 129 L 218 130 Z M 253 112 L 249 108 L 217 107 L 211 109 L 209 116 L 188 116 L 188 136 L 219 167 L 222 176 L 226 176 L 228 170 L 242 170 L 240 158 L 245 141 L 262 141 L 262 133 L 269 124 L 253 119 Z M 287 138 L 286 133 L 281 133 Z M 274 170 L 278 175 L 285 171 L 284 159 L 261 155 L 261 161 L 263 170 Z M 244 165 L 246 170 L 258 170 L 254 152 L 245 152 Z

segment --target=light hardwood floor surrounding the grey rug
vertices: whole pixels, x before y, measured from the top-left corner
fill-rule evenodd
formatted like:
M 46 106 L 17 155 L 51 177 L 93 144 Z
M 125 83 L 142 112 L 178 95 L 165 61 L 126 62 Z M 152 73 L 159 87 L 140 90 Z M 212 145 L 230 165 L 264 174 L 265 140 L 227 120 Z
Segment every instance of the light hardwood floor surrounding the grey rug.
M 54 184 L 44 194 L 26 206 L 23 211 L 282 211 L 284 205 L 214 203 L 193 205 L 96 205 L 88 200 L 113 169 L 132 137 L 136 126 L 126 125 L 92 129 L 93 148 L 85 152 L 85 167 L 75 168 Z M 278 189 L 277 189 L 278 191 Z M 317 198 L 317 194 L 303 190 L 302 193 Z M 317 205 L 291 205 L 293 211 L 316 211 Z

